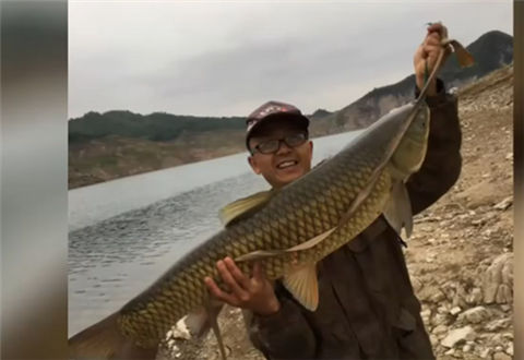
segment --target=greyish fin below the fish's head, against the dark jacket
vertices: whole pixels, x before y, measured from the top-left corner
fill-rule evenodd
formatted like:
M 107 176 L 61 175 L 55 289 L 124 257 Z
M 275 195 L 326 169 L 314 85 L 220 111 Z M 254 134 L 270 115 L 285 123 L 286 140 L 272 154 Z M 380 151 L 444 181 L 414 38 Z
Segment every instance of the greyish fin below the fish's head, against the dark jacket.
M 413 231 L 412 202 L 404 182 L 398 181 L 393 184 L 390 200 L 384 208 L 384 217 L 398 236 L 402 228 L 409 238 Z

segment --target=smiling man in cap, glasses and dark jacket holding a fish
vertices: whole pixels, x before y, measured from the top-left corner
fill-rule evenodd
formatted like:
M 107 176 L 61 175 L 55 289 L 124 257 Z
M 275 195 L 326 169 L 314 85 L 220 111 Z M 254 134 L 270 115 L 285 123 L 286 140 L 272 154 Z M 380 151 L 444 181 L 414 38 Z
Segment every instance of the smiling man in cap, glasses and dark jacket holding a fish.
M 443 32 L 428 27 L 414 57 L 416 85 L 434 65 Z M 431 113 L 428 153 L 407 189 L 417 214 L 444 194 L 461 169 L 461 130 L 456 99 L 443 84 L 430 84 L 427 104 Z M 273 188 L 282 188 L 311 168 L 313 145 L 309 121 L 298 109 L 267 103 L 248 118 L 249 164 Z M 433 359 L 420 317 L 401 240 L 379 217 L 347 245 L 318 265 L 319 308 L 302 308 L 284 287 L 264 278 L 260 265 L 242 274 L 234 261 L 217 263 L 230 289 L 226 292 L 206 278 L 217 299 L 245 310 L 252 343 L 269 359 Z

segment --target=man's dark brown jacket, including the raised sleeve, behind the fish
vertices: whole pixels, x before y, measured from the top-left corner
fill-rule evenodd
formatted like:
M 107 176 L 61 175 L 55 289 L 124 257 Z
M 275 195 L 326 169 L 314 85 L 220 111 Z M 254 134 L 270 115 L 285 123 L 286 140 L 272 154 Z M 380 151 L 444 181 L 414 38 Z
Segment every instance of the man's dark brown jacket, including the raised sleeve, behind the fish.
M 419 213 L 456 181 L 461 171 L 457 101 L 427 98 L 428 153 L 407 189 Z M 270 316 L 245 312 L 249 336 L 267 359 L 433 359 L 409 280 L 402 240 L 379 217 L 356 239 L 318 264 L 319 308 L 303 309 L 281 285 L 281 310 Z

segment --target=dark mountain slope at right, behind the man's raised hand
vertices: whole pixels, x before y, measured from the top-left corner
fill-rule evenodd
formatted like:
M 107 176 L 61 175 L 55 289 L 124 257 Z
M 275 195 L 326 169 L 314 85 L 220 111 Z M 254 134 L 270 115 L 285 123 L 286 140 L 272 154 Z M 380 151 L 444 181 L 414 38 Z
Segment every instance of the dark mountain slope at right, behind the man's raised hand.
M 486 33 L 466 49 L 475 58 L 475 64 L 461 69 L 456 57 L 451 56 L 439 74 L 446 88 L 471 83 L 513 61 L 513 37 L 502 32 Z M 338 131 L 366 128 L 391 109 L 412 100 L 414 94 L 415 75 L 409 75 L 395 84 L 374 88 L 324 121 Z

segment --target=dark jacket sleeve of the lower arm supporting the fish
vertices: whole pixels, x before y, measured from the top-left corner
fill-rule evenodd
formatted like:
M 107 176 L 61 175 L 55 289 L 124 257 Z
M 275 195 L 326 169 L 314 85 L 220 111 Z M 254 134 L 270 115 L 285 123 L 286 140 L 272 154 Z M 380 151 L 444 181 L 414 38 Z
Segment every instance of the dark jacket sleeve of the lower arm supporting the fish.
M 275 314 L 260 316 L 243 311 L 251 343 L 266 359 L 310 359 L 314 357 L 317 340 L 300 305 L 276 286 L 281 309 Z

